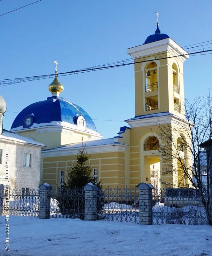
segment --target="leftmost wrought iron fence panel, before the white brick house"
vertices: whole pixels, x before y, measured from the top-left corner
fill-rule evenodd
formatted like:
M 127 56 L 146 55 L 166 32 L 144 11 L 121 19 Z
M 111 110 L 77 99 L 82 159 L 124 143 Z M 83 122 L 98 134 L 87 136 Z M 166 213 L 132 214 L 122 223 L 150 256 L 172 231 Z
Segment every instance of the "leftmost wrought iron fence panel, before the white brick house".
M 39 217 L 39 191 L 38 189 L 10 189 L 5 193 L 4 211 L 9 210 L 9 215 Z M 9 208 L 8 208 L 9 207 Z

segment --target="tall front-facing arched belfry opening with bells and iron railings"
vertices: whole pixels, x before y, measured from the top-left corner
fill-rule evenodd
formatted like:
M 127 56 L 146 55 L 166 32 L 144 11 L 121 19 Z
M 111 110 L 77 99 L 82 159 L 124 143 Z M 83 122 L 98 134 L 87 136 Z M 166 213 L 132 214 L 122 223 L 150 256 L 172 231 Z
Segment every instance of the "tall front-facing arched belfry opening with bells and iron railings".
M 146 65 L 145 79 L 145 111 L 158 109 L 158 73 L 155 62 Z

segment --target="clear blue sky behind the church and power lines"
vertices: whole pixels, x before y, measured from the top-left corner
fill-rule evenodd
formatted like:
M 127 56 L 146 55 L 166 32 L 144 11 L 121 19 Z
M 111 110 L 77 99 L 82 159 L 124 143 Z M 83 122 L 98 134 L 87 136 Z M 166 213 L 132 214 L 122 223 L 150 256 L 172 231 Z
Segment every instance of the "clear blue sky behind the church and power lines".
M 0 14 L 32 2 L 0 1 Z M 58 72 L 65 72 L 128 59 L 127 48 L 143 44 L 154 33 L 155 11 L 160 14 L 161 33 L 180 46 L 212 40 L 211 8 L 211 1 L 196 0 L 43 0 L 0 17 L 0 79 L 51 74 L 54 60 Z M 211 88 L 211 56 L 191 56 L 184 63 L 185 98 L 190 101 Z M 20 112 L 51 96 L 51 81 L 1 87 L 7 103 L 5 129 L 17 115 L 9 111 Z M 133 65 L 62 76 L 59 81 L 64 85 L 60 96 L 84 108 L 104 138 L 116 136 L 127 125 L 121 121 L 135 116 Z

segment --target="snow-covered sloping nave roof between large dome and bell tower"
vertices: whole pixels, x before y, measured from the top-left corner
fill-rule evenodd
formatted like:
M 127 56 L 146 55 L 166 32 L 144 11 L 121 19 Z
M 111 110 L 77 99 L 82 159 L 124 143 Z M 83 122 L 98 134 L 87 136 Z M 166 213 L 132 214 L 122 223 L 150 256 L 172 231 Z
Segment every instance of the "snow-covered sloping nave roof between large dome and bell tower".
M 124 145 L 128 146 L 127 144 L 121 143 L 121 142 L 115 142 L 114 138 L 109 138 L 109 139 L 101 139 L 101 140 L 91 140 L 91 141 L 84 141 L 82 142 L 77 142 L 70 144 L 68 146 L 60 147 L 60 148 L 51 148 L 51 149 L 44 149 L 42 151 L 51 151 L 51 150 L 63 150 L 63 149 L 71 149 L 71 148 L 81 148 L 81 147 L 92 147 L 92 146 L 101 146 L 101 145 Z

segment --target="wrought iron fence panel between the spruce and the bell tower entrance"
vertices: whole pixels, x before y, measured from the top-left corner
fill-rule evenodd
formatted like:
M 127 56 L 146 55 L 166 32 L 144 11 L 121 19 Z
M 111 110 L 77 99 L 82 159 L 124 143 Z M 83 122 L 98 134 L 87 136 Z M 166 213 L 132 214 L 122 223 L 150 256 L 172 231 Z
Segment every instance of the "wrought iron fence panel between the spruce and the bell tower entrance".
M 97 219 L 139 224 L 139 190 L 106 188 L 97 193 Z

